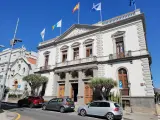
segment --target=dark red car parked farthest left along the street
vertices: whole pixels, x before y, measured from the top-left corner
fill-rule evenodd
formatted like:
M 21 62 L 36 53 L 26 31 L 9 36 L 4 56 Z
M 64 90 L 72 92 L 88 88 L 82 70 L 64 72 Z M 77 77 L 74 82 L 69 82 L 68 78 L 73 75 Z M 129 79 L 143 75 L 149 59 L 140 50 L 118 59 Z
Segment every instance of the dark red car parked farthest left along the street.
M 42 103 L 44 103 L 44 99 L 41 96 L 27 96 L 19 100 L 17 104 L 19 107 L 26 105 L 33 108 L 36 106 L 42 106 Z

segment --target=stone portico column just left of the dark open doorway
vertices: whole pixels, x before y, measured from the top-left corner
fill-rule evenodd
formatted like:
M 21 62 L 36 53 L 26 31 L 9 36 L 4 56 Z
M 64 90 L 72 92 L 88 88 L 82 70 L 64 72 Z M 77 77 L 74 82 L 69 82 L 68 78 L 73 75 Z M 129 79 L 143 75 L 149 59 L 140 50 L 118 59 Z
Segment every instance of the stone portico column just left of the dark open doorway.
M 69 76 L 70 76 L 69 72 L 66 72 L 65 92 L 64 92 L 65 97 L 70 97 L 71 84 L 69 83 L 69 78 L 70 78 Z

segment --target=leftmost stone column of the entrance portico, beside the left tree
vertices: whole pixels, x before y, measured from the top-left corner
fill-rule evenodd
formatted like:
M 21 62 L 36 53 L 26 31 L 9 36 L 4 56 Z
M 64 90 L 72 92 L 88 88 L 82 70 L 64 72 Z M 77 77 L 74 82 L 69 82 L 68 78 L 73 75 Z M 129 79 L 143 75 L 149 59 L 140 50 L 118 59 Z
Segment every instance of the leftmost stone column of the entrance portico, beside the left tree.
M 57 96 L 57 92 L 58 92 L 58 91 L 57 91 L 57 85 L 58 85 L 57 81 L 58 81 L 58 80 L 59 80 L 58 74 L 57 74 L 57 73 L 54 73 L 53 91 L 52 91 L 54 98 L 58 97 L 58 96 Z

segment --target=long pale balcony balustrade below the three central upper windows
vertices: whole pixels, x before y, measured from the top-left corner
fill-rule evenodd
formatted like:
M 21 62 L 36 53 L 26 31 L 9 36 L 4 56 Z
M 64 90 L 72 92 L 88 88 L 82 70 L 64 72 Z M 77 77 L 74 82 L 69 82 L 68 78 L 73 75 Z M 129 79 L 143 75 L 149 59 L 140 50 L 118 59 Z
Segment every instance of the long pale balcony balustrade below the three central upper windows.
M 89 63 L 89 62 L 95 62 L 95 61 L 97 61 L 97 57 L 93 56 L 93 57 L 87 57 L 87 58 L 82 58 L 82 59 L 76 59 L 76 60 L 72 60 L 72 61 L 66 61 L 66 62 L 57 63 L 56 67 L 77 65 L 77 64 Z

